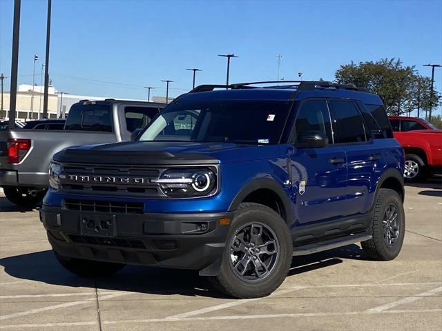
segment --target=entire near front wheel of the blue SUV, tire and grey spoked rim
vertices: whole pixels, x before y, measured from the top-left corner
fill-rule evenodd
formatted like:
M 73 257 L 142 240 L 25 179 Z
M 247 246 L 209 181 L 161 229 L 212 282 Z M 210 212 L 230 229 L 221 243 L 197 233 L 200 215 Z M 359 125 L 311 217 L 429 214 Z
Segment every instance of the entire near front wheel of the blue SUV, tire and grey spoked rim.
M 266 297 L 289 272 L 291 234 L 278 213 L 258 203 L 241 203 L 233 218 L 220 274 L 212 285 L 238 299 Z

